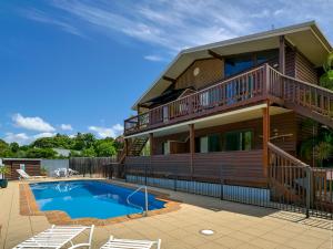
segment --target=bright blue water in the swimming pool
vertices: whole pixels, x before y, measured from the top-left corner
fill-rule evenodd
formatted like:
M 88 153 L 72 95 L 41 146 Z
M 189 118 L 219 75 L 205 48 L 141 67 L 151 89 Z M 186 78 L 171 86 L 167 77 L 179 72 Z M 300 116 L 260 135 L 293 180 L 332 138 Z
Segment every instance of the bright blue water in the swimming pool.
M 127 197 L 133 189 L 98 180 L 71 180 L 30 184 L 40 210 L 65 211 L 71 218 L 107 219 L 138 214 L 142 209 L 128 205 Z M 148 197 L 149 210 L 164 207 L 164 201 Z M 134 194 L 130 201 L 144 208 L 144 194 Z

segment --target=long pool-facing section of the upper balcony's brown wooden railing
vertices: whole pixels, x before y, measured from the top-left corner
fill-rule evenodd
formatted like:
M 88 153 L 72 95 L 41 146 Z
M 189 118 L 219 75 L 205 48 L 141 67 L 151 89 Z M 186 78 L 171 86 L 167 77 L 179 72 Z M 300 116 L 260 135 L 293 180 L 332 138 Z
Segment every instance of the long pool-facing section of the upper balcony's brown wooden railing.
M 124 121 L 124 133 L 130 135 L 258 102 L 266 92 L 264 85 L 266 66 L 261 65 L 194 94 L 130 117 Z

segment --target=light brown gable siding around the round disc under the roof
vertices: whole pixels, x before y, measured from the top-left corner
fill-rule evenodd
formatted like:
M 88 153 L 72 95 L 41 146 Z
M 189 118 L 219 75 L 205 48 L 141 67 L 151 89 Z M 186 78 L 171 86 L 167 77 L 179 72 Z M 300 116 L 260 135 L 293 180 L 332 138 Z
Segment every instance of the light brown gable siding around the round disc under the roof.
M 175 81 L 175 89 L 194 87 L 202 89 L 213 82 L 223 79 L 223 61 L 220 59 L 205 59 L 194 61 Z M 193 71 L 199 69 L 199 74 L 195 76 Z

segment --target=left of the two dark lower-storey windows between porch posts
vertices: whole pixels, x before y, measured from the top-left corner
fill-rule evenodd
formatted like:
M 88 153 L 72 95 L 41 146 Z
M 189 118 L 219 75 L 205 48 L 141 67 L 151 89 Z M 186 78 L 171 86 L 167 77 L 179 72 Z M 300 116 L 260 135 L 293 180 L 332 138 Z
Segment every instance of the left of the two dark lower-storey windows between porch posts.
M 221 152 L 221 136 L 219 134 L 198 137 L 195 139 L 196 153 Z

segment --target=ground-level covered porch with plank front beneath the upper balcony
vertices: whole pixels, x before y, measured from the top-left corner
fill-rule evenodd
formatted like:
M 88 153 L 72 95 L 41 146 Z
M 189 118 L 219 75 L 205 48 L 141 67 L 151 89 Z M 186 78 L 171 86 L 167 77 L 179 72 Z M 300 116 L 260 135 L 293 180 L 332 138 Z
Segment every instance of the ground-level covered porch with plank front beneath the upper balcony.
M 128 136 L 127 145 L 138 137 L 148 139 L 149 152 L 128 154 L 125 174 L 264 187 L 270 138 L 278 138 L 286 151 L 295 149 L 291 118 L 294 115 L 289 110 L 262 103 Z M 274 136 L 270 136 L 271 126 Z

